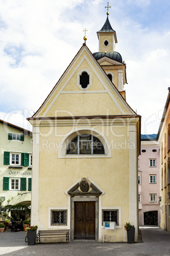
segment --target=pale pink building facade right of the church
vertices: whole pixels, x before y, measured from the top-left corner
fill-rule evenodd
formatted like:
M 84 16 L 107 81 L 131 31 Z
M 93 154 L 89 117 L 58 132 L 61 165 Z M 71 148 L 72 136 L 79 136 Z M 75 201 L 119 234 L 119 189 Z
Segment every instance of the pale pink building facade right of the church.
M 148 139 L 151 138 L 151 139 Z M 160 146 L 152 136 L 141 136 L 138 157 L 139 225 L 160 225 Z

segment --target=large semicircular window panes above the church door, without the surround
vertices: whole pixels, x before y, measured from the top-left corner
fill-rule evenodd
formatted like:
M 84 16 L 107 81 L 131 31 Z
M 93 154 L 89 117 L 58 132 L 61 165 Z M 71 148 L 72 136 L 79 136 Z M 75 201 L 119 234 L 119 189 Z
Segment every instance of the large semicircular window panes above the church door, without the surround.
M 67 155 L 103 155 L 105 149 L 100 139 L 91 134 L 79 134 L 67 146 Z

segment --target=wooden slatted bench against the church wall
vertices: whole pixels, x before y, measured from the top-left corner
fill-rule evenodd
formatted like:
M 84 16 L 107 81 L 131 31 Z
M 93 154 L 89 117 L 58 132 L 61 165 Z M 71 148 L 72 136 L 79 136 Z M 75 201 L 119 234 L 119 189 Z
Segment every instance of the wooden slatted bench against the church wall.
M 70 241 L 70 230 L 69 229 L 51 229 L 39 231 L 36 236 L 36 241 L 41 243 L 41 238 L 65 238 L 66 242 Z

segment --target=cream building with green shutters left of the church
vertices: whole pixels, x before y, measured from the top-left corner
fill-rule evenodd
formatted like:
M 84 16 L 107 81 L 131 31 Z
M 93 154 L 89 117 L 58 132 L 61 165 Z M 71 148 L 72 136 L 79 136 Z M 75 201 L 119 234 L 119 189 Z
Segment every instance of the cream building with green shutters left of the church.
M 32 132 L 0 119 L 0 203 L 29 204 Z

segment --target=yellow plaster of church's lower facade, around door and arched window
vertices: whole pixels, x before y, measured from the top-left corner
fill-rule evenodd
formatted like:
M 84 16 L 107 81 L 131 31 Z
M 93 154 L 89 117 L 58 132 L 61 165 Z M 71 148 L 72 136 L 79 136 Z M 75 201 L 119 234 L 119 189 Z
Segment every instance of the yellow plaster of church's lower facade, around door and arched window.
M 58 127 L 58 134 L 67 134 L 69 129 L 70 127 Z M 91 178 L 105 191 L 101 197 L 102 206 L 122 206 L 122 223 L 127 220 L 129 211 L 128 127 L 118 125 L 111 129 L 111 127 L 99 126 L 98 131 L 102 131 L 107 136 L 112 158 L 58 159 L 58 146 L 63 137 L 55 136 L 54 131 L 48 137 L 40 136 L 39 220 L 44 224 L 44 229 L 48 228 L 48 207 L 67 207 L 68 197 L 64 194 L 65 190 L 83 177 Z M 40 132 L 49 134 L 49 129 L 41 127 Z M 124 136 L 120 136 L 121 134 Z M 122 238 L 124 228 L 117 232 Z

